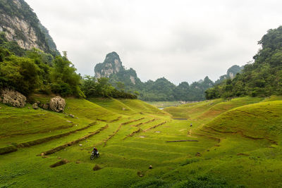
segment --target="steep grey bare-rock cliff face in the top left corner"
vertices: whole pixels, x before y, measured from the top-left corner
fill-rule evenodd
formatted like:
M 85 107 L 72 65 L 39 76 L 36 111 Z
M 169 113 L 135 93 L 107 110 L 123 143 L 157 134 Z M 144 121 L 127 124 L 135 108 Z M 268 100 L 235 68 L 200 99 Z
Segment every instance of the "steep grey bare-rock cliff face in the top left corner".
M 24 0 L 0 1 L 0 32 L 5 32 L 6 39 L 16 41 L 23 49 L 59 53 L 48 30 Z

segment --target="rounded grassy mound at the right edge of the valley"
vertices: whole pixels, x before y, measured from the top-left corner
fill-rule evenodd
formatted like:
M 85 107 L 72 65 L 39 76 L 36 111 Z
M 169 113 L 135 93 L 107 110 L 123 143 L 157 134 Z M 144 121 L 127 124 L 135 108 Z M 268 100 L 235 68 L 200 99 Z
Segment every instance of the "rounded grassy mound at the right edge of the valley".
M 247 137 L 282 139 L 282 101 L 250 104 L 226 111 L 204 126 L 218 132 L 240 132 Z

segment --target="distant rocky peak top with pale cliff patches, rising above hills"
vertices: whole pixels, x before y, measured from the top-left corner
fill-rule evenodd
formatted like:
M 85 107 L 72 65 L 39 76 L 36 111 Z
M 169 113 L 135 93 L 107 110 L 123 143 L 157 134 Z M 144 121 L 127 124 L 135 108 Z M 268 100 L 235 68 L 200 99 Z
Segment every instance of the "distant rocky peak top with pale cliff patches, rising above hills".
M 95 77 L 109 77 L 116 74 L 121 70 L 125 70 L 116 52 L 111 52 L 106 55 L 103 63 L 98 63 L 94 68 Z

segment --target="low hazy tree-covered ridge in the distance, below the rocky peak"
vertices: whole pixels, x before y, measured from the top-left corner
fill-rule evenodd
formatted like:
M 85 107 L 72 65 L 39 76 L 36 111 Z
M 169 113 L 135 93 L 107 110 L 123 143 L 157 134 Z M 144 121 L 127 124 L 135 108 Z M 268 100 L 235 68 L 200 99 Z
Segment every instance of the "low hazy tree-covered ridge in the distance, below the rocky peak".
M 130 73 L 130 71 L 134 70 L 127 71 Z M 149 80 L 143 83 L 137 76 L 135 76 L 135 84 L 133 84 L 129 79 L 125 79 L 129 77 L 126 73 L 123 71 L 111 75 L 110 82 L 116 88 L 122 88 L 125 91 L 137 91 L 138 98 L 142 101 L 202 101 L 205 99 L 204 92 L 214 85 L 214 82 L 209 80 L 209 77 L 205 77 L 204 80 L 199 82 L 192 82 L 192 84 L 181 82 L 176 86 L 164 77 L 156 81 Z M 130 75 L 134 74 L 130 73 Z

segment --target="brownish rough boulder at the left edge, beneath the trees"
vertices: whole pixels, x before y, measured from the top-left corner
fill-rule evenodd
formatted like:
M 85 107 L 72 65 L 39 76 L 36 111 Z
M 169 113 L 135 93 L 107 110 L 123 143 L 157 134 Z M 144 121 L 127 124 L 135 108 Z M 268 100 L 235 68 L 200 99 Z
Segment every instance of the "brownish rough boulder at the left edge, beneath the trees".
M 13 89 L 0 89 L 0 101 L 14 107 L 25 107 L 26 97 Z

